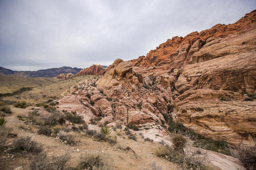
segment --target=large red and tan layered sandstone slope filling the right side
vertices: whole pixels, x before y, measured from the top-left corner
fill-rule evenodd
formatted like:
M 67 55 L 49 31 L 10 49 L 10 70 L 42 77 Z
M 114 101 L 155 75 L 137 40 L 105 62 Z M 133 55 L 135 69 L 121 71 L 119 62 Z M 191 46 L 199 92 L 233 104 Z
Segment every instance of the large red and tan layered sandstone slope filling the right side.
M 206 138 L 254 146 L 255 15 L 174 37 L 147 57 L 116 59 L 101 79 L 79 84 L 59 107 L 87 121 L 105 114 L 110 126 L 137 125 L 160 135 L 158 142 L 168 136 L 166 118 L 172 117 Z

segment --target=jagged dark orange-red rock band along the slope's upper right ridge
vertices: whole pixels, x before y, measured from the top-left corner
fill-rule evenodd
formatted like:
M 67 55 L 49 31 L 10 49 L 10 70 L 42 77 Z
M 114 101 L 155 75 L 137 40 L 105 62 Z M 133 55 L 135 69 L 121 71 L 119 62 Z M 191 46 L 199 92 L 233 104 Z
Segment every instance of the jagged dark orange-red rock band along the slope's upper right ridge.
M 192 32 L 185 37 L 172 37 L 172 39 L 168 39 L 156 49 L 150 50 L 146 57 L 141 56 L 138 59 L 131 60 L 131 62 L 134 66 L 140 67 L 163 66 L 166 64 L 176 68 L 181 67 L 188 63 L 189 56 L 204 46 L 207 41 L 225 38 L 234 33 L 245 31 L 255 25 L 255 20 L 254 10 L 233 24 L 217 24 L 200 33 Z

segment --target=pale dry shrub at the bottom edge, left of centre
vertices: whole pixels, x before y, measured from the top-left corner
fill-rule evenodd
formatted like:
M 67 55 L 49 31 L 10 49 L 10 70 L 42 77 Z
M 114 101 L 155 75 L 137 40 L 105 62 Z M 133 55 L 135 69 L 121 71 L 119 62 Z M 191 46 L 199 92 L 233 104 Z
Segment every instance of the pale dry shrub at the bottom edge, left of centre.
M 110 170 L 110 156 L 102 153 L 86 153 L 81 155 L 78 169 Z

